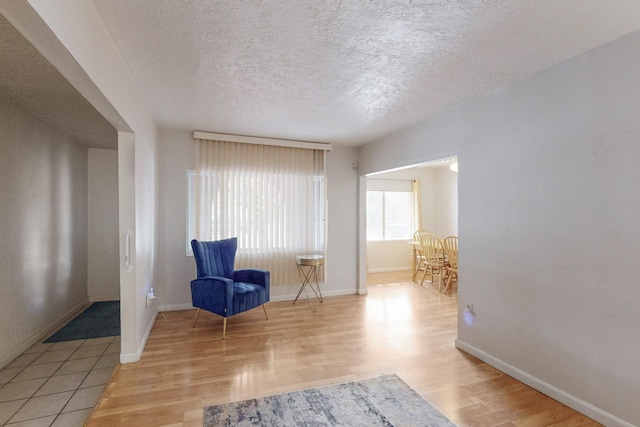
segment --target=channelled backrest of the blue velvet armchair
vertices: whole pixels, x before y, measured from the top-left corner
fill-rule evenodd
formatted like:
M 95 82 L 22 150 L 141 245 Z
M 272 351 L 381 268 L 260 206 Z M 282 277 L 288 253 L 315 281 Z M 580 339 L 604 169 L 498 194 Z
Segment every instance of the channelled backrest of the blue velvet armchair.
M 192 240 L 191 248 L 196 261 L 198 278 L 215 276 L 232 279 L 237 247 L 236 237 L 213 242 Z

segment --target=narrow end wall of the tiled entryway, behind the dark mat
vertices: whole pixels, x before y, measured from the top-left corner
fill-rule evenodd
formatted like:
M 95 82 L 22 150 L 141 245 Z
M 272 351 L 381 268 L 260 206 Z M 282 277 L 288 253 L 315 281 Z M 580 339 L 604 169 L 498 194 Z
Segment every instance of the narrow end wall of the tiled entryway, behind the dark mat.
M 88 171 L 87 292 L 90 301 L 118 301 L 118 151 L 89 149 Z

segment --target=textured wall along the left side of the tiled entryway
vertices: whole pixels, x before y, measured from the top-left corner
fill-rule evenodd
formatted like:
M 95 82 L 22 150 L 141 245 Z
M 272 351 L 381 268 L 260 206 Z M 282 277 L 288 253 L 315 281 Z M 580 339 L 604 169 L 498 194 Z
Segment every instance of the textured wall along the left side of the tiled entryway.
M 0 95 L 0 367 L 87 303 L 87 149 Z

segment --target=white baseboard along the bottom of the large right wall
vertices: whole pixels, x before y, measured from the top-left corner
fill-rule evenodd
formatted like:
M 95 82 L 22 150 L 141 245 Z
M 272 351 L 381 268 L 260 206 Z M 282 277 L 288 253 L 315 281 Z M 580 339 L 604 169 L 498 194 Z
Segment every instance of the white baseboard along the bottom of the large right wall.
M 518 369 L 515 366 L 512 366 L 483 350 L 480 350 L 477 347 L 461 341 L 460 339 L 456 340 L 456 347 L 466 353 L 471 354 L 472 356 L 477 357 L 483 362 L 488 363 L 499 371 L 504 372 L 505 374 L 517 379 L 518 381 L 528 385 L 529 387 L 532 387 L 539 392 L 546 394 L 552 399 L 555 399 L 558 402 L 563 403 L 572 409 L 575 409 L 581 414 L 584 414 L 587 417 L 606 425 L 607 427 L 635 427 L 633 424 L 621 418 L 618 418 L 615 415 L 610 414 L 609 412 L 606 412 L 588 402 L 585 402 L 584 400 L 579 399 L 572 394 L 560 390 L 559 388 L 547 383 L 546 381 L 534 377 L 533 375 L 521 369 Z

